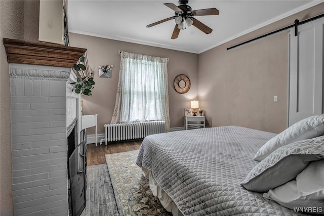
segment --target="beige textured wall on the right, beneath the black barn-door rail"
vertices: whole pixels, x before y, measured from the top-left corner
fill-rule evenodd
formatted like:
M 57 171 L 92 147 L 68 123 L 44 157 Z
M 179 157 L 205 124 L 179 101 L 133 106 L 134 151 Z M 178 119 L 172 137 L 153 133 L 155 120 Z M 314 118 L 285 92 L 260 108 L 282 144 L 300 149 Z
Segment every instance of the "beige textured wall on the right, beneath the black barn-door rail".
M 321 13 L 323 3 L 199 54 L 198 98 L 208 124 L 283 131 L 288 115 L 288 31 L 226 48 Z M 278 102 L 273 102 L 274 95 Z

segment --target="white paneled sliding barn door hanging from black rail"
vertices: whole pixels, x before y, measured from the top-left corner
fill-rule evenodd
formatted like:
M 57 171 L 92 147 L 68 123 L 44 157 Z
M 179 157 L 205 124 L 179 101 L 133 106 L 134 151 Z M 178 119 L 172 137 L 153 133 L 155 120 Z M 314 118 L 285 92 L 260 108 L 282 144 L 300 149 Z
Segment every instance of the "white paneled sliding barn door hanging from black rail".
M 324 18 L 290 32 L 289 126 L 308 116 L 323 113 Z

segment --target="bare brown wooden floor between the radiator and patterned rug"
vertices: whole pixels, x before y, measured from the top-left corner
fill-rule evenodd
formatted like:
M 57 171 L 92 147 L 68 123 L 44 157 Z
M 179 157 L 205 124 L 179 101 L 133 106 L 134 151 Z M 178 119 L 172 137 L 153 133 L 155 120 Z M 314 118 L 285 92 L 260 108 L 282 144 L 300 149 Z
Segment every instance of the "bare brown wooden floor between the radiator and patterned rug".
M 87 166 L 106 163 L 105 155 L 118 152 L 137 150 L 140 148 L 142 141 L 126 143 L 108 143 L 107 145 L 98 143 L 87 145 Z

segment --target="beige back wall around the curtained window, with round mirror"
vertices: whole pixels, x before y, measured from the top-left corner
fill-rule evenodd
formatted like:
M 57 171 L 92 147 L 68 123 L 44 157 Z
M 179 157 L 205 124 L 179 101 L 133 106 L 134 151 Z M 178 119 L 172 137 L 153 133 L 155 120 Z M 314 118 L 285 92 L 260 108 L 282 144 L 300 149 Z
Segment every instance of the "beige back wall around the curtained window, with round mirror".
M 120 55 L 117 51 L 166 57 L 168 61 L 170 127 L 183 126 L 184 107 L 190 107 L 190 100 L 197 99 L 198 55 L 163 48 L 132 44 L 129 42 L 69 33 L 70 46 L 86 48 L 89 65 L 94 70 L 92 96 L 83 96 L 84 113 L 98 114 L 98 133 L 104 133 L 103 125 L 110 123 L 116 101 Z M 114 65 L 111 78 L 98 75 L 99 65 Z M 191 81 L 189 92 L 179 94 L 174 90 L 173 81 L 178 74 L 185 74 Z M 89 128 L 89 134 L 94 132 Z

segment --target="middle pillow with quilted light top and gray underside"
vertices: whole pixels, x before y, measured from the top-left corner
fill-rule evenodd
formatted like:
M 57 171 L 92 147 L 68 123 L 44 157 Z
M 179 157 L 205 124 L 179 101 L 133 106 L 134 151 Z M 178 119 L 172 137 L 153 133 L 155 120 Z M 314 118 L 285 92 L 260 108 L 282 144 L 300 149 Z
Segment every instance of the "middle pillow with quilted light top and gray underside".
M 282 146 L 258 163 L 241 185 L 267 192 L 294 179 L 310 161 L 324 158 L 324 136 Z

